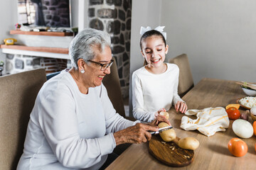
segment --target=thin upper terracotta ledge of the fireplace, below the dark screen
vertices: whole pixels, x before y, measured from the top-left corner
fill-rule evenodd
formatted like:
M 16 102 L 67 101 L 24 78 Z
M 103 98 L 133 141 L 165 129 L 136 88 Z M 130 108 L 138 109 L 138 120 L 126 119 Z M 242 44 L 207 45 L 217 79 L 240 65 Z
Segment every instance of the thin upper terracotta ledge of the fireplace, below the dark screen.
M 23 35 L 46 35 L 46 36 L 73 36 L 73 33 L 64 33 L 64 32 L 48 32 L 48 31 L 23 31 L 23 30 L 10 30 L 10 34 L 23 34 Z

